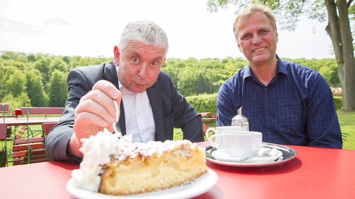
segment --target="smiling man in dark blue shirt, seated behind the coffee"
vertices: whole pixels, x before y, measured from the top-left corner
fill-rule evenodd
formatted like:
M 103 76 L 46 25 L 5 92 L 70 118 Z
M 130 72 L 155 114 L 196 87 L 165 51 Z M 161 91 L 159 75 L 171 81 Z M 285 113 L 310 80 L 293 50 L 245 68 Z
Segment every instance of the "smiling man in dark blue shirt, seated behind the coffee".
M 275 17 L 253 5 L 235 18 L 233 32 L 249 64 L 226 80 L 217 96 L 217 126 L 231 125 L 243 107 L 249 130 L 263 142 L 342 148 L 331 90 L 313 69 L 276 55 Z

